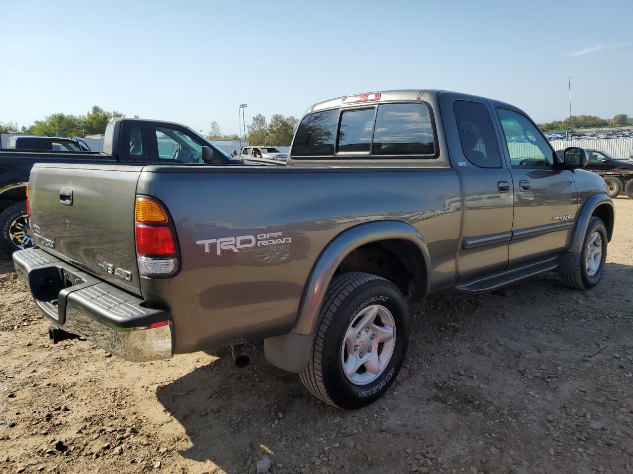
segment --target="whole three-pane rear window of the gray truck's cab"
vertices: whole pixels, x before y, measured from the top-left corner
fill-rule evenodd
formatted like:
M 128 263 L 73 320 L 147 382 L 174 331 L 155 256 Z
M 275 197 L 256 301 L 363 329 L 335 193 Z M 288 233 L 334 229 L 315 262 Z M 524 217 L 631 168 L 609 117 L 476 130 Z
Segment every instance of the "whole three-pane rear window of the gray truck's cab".
M 434 157 L 436 140 L 425 104 L 381 104 L 368 109 L 316 112 L 301 120 L 291 154 Z M 338 135 L 337 135 L 338 131 Z M 334 146 L 336 145 L 336 147 Z

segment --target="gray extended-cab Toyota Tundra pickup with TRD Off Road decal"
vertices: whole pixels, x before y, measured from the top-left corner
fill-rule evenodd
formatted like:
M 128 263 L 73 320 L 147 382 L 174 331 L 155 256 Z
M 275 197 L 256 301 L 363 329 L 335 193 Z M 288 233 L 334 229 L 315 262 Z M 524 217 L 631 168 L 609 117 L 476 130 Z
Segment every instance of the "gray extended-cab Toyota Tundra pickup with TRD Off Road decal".
M 35 164 L 37 247 L 13 254 L 52 325 L 131 361 L 264 341 L 358 408 L 406 356 L 408 301 L 603 273 L 614 212 L 587 155 L 517 107 L 396 90 L 310 107 L 286 166 Z

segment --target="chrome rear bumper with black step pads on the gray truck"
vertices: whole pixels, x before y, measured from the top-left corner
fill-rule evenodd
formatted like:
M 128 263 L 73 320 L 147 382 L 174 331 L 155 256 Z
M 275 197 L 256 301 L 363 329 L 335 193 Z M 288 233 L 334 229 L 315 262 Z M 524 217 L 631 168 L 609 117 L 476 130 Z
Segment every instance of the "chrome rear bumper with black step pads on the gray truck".
M 13 253 L 13 262 L 37 307 L 56 327 L 85 337 L 130 362 L 173 355 L 169 313 L 149 309 L 137 296 L 37 247 Z

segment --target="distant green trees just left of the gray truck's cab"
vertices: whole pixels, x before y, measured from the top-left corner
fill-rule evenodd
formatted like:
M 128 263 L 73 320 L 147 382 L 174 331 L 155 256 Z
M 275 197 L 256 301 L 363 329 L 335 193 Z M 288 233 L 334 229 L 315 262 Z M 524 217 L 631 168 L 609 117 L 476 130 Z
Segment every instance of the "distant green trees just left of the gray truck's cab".
M 270 122 L 265 116 L 257 114 L 253 122 L 248 126 L 246 140 L 251 145 L 275 145 L 287 147 L 292 142 L 294 131 L 297 130 L 299 121 L 293 116 L 284 117 L 282 114 L 274 114 Z M 211 129 L 206 135 L 210 140 L 239 140 L 237 135 L 223 135 L 220 125 L 216 121 L 211 122 Z

